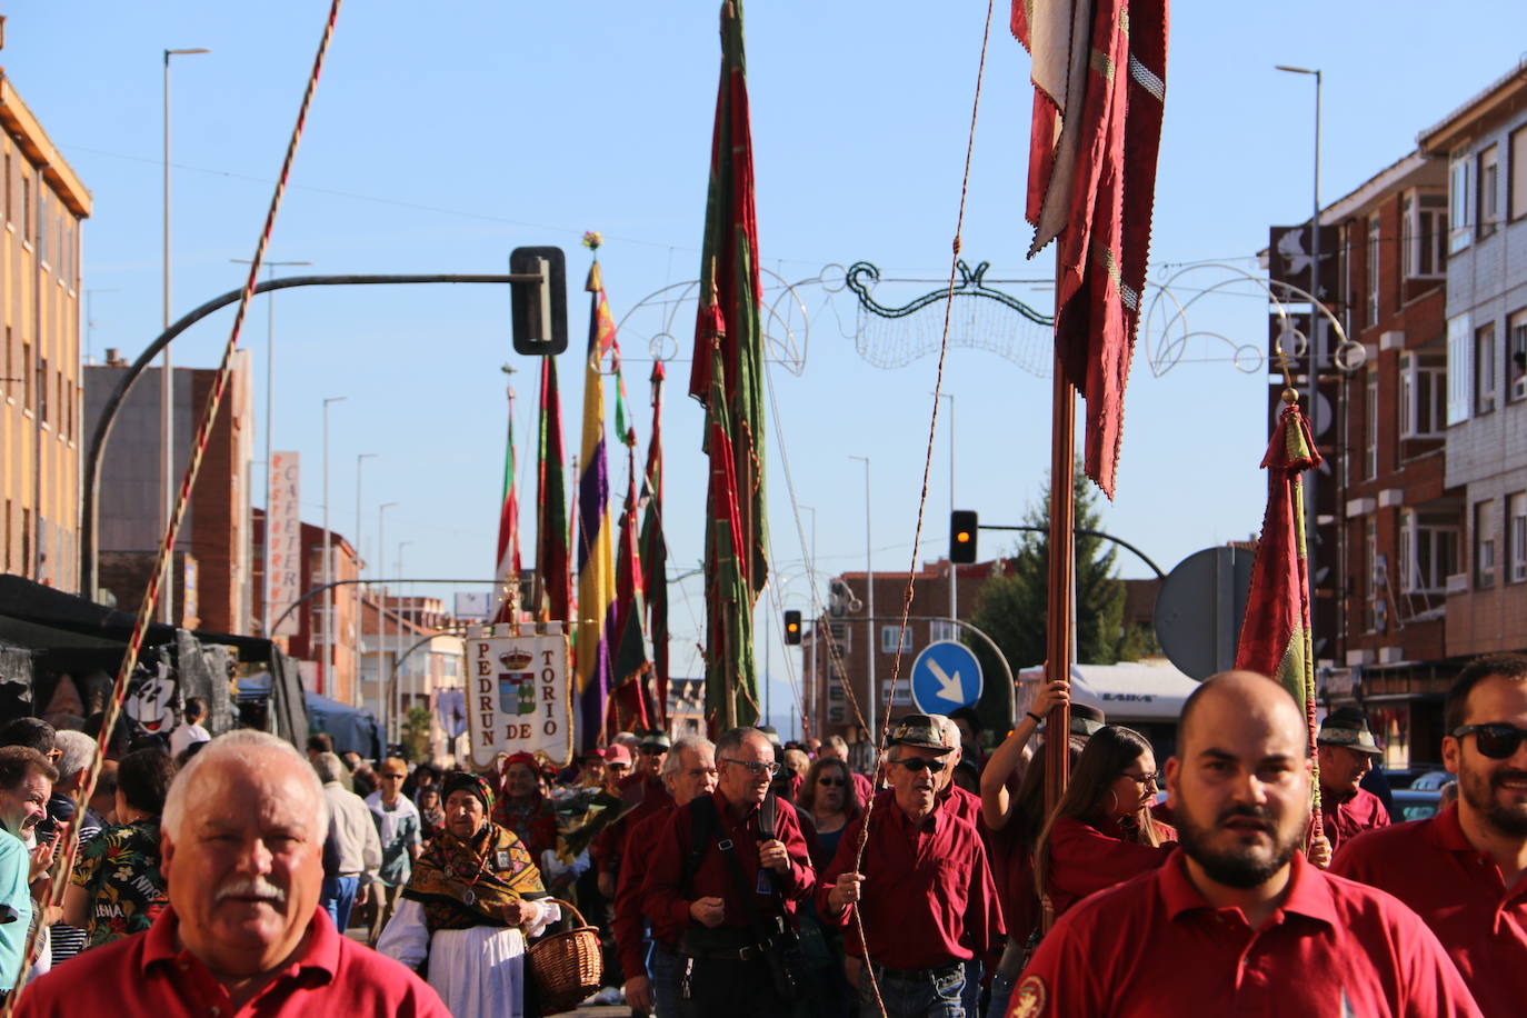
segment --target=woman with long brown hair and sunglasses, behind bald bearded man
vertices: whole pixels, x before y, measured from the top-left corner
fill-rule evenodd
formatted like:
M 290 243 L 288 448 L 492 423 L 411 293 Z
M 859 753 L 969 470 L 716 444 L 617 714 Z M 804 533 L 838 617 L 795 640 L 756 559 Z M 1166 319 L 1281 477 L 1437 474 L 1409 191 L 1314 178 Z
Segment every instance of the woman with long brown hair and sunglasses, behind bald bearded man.
M 1035 887 L 1057 916 L 1167 861 L 1177 832 L 1151 818 L 1159 786 L 1156 755 L 1138 731 L 1104 725 L 1087 740 L 1034 853 Z

